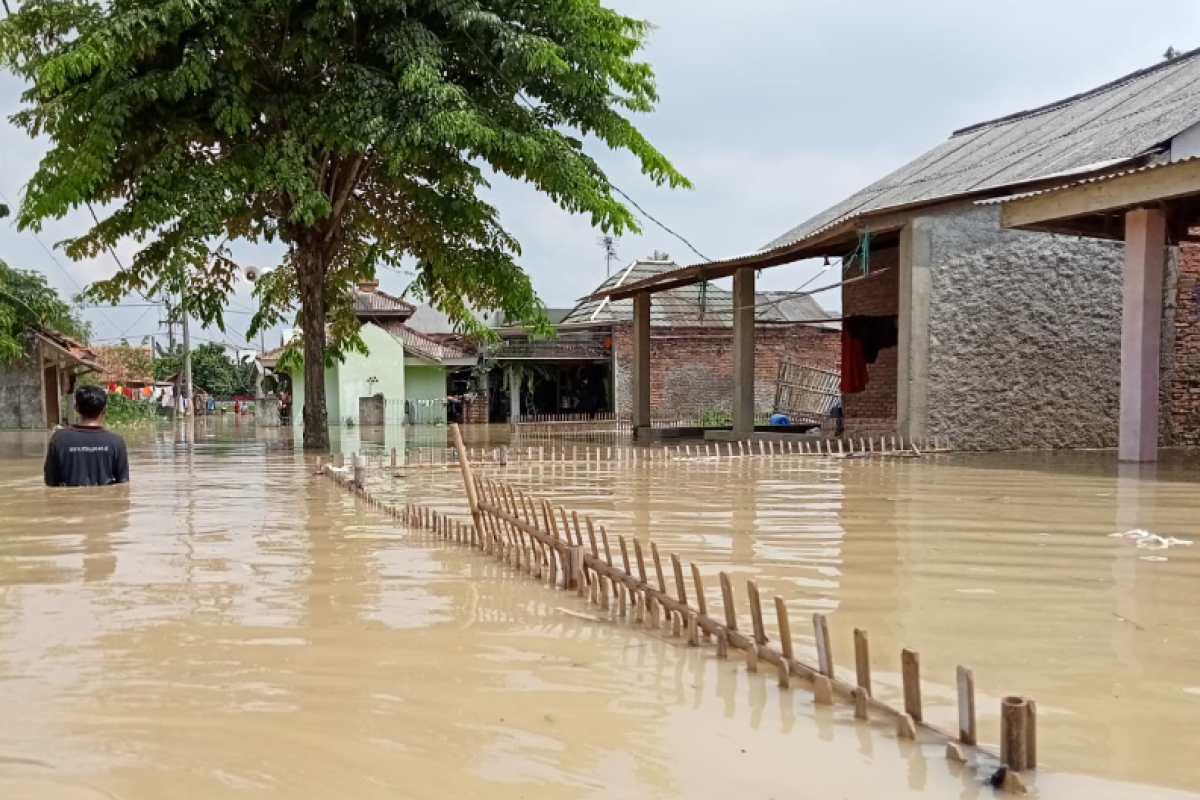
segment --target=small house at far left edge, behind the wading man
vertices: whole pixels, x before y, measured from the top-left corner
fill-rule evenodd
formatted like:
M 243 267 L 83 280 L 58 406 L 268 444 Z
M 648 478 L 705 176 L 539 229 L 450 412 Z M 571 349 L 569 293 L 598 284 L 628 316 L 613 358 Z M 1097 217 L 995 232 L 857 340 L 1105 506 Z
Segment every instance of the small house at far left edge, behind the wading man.
M 98 369 L 84 343 L 49 329 L 30 330 L 25 356 L 0 366 L 0 428 L 53 428 L 67 422 L 76 380 Z

